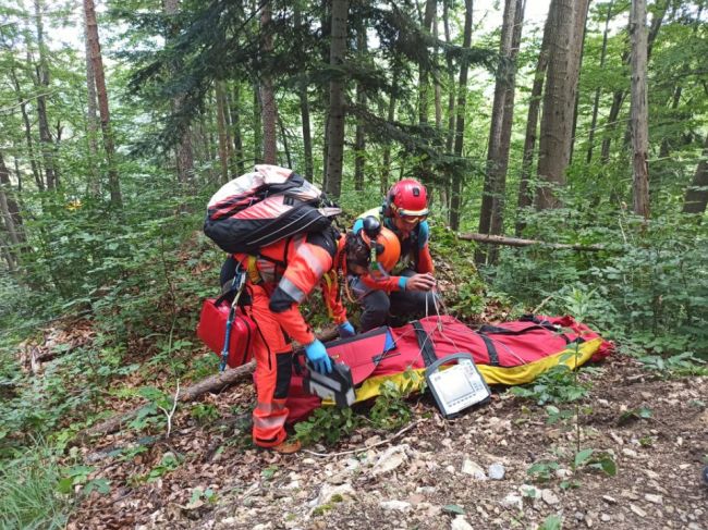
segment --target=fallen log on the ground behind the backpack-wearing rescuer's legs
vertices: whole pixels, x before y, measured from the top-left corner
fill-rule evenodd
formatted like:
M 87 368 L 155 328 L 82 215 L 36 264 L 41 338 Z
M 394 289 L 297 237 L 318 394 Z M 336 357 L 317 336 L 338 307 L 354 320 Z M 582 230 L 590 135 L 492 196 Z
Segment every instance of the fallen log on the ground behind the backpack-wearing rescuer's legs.
M 337 336 L 338 333 L 335 329 L 328 329 L 320 334 L 319 340 L 322 342 L 327 342 L 335 338 Z M 301 354 L 302 352 L 303 352 L 302 346 L 294 349 L 295 354 Z M 207 392 L 216 392 L 216 393 L 222 392 L 223 390 L 228 389 L 232 384 L 235 384 L 239 381 L 243 381 L 244 379 L 246 379 L 248 375 L 253 373 L 255 368 L 256 368 L 256 362 L 252 360 L 251 362 L 246 362 L 245 365 L 242 365 L 237 368 L 225 370 L 216 375 L 211 375 L 207 379 L 203 379 L 202 381 L 193 384 L 192 386 L 187 386 L 186 389 L 181 390 L 179 400 L 192 402 L 197 397 L 199 397 L 200 395 L 206 394 Z M 137 416 L 137 412 L 143 407 L 144 405 L 136 407 L 132 410 L 129 410 L 126 412 L 120 414 L 118 416 L 113 416 L 112 418 L 109 418 L 101 423 L 89 427 L 88 429 L 85 429 L 84 431 L 78 433 L 76 440 L 82 442 L 93 436 L 113 433 L 118 431 L 123 424 L 125 424 L 126 422 L 132 420 L 135 416 Z

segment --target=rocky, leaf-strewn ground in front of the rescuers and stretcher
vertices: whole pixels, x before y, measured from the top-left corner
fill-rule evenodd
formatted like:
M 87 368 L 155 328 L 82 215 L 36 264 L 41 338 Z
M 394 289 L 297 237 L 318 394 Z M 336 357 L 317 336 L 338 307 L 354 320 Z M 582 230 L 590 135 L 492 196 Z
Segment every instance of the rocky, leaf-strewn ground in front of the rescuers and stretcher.
M 83 447 L 111 491 L 69 528 L 708 529 L 706 378 L 663 380 L 614 356 L 577 423 L 548 424 L 544 407 L 508 392 L 451 421 L 422 398 L 398 436 L 365 428 L 290 456 L 249 447 L 251 395 L 242 384 L 208 396 L 220 418 L 207 424 L 178 411 L 169 440 L 119 433 Z M 617 476 L 572 470 L 578 435 Z M 528 474 L 539 461 L 549 480 Z

